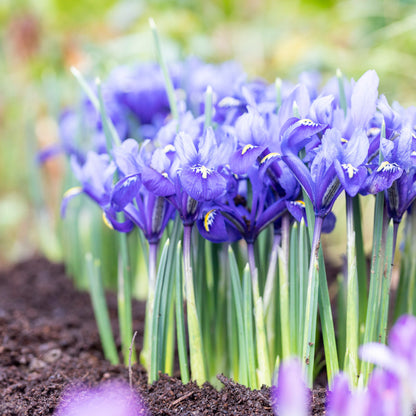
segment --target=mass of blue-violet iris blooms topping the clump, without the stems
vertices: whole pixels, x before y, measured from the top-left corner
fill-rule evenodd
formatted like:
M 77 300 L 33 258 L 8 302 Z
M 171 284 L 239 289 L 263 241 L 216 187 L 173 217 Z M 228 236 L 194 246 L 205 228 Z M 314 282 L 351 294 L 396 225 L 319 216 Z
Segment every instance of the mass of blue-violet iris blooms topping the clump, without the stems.
M 323 218 L 344 190 L 350 196 L 386 191 L 395 221 L 414 200 L 416 113 L 379 97 L 374 71 L 357 82 L 341 79 L 341 86 L 331 79 L 320 92 L 308 74 L 278 89 L 247 81 L 233 63 L 191 59 L 170 73 L 178 120 L 169 118 L 155 65 L 117 68 L 104 83 L 107 114 L 123 140 L 114 149 L 107 149 L 103 123 L 88 100 L 82 112 L 89 126 L 82 136 L 92 142 L 87 152 L 76 146 L 77 112 L 62 116 L 73 170 L 114 228 L 135 224 L 157 240 L 174 207 L 210 241 L 252 242 L 270 224 L 278 229 L 285 211 L 296 220 L 304 216 L 301 187 Z M 117 222 L 119 211 L 126 223 Z M 328 222 L 330 229 L 333 219 Z

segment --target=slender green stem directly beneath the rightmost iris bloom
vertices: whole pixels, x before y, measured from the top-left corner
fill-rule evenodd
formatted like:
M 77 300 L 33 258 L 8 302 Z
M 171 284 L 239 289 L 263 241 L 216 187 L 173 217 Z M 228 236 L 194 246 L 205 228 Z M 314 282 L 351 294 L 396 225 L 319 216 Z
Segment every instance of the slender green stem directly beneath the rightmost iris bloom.
M 386 238 L 386 255 L 384 261 L 384 272 L 381 292 L 381 313 L 380 322 L 378 325 L 378 339 L 379 342 L 385 343 L 387 336 L 387 325 L 389 317 L 389 301 L 390 301 L 390 286 L 391 286 L 391 272 L 394 261 L 395 245 L 397 240 L 397 231 L 399 224 L 390 223 Z

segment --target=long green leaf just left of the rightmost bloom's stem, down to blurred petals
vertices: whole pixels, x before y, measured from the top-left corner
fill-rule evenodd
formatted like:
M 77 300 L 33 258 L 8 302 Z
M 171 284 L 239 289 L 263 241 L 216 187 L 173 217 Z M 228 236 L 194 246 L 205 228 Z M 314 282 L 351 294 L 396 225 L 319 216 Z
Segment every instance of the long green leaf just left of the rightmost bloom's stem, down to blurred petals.
M 384 266 L 383 259 L 385 253 L 384 192 L 379 192 L 377 194 L 374 210 L 373 250 L 371 255 L 370 290 L 368 294 L 364 344 L 377 341 L 376 330 L 380 313 L 380 296 Z M 367 384 L 371 368 L 372 365 L 369 362 L 365 361 L 361 363 L 360 384 Z

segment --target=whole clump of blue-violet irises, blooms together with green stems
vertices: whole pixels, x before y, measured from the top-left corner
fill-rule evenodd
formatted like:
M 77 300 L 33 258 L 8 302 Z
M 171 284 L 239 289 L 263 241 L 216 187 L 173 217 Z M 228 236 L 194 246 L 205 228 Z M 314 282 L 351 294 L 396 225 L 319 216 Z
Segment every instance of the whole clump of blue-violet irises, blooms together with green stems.
M 82 80 L 88 98 L 61 119 L 79 182 L 63 208 L 85 194 L 112 229 L 140 236 L 136 254 L 120 240 L 115 257 L 119 270 L 132 270 L 138 251 L 147 257 L 141 359 L 150 381 L 172 370 L 176 342 L 184 381 L 227 369 L 257 388 L 297 356 L 309 387 L 326 365 L 334 391 L 347 390 L 342 369 L 348 386 L 390 389 L 384 373 L 370 378 L 358 346 L 386 339 L 399 226 L 414 216 L 416 111 L 390 106 L 373 70 L 357 81 L 338 72 L 323 86 L 308 73 L 270 84 L 232 62 L 166 65 L 158 56 L 161 70 L 146 63 L 116 68 L 97 87 Z M 321 235 L 334 229 L 341 197 L 346 272 L 334 322 Z M 368 271 L 361 205 L 370 199 Z M 408 262 L 398 301 L 416 293 Z M 120 287 L 134 283 L 123 276 Z

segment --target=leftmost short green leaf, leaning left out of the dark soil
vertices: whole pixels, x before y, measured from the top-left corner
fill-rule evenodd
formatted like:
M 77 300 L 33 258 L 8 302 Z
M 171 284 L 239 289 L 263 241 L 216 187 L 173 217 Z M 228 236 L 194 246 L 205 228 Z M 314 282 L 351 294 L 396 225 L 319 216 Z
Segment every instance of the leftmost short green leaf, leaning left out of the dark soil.
M 118 354 L 111 329 L 110 317 L 108 314 L 105 299 L 104 286 L 101 280 L 99 262 L 92 258 L 91 253 L 85 255 L 88 281 L 90 285 L 90 296 L 94 309 L 95 320 L 97 321 L 98 332 L 104 350 L 105 358 L 111 364 L 118 364 Z

